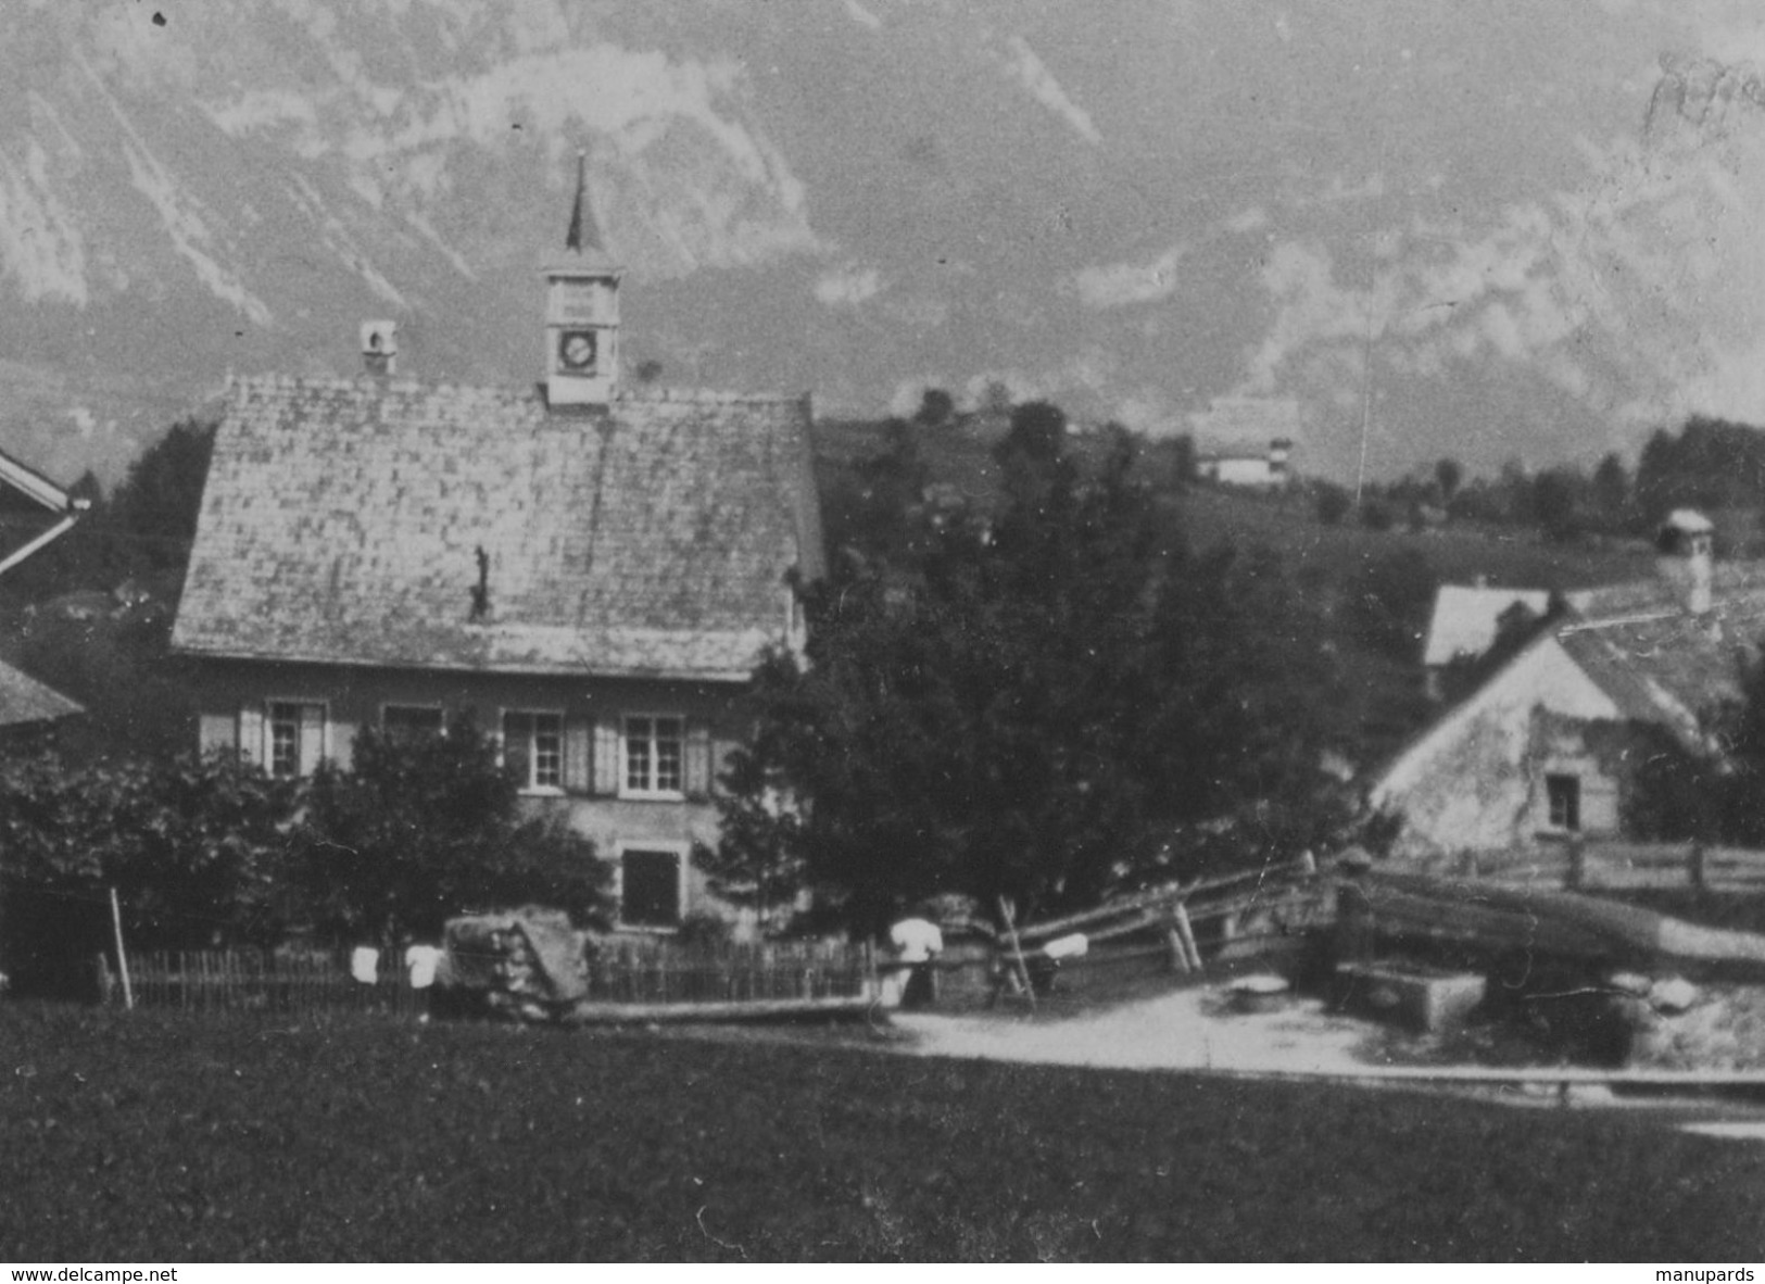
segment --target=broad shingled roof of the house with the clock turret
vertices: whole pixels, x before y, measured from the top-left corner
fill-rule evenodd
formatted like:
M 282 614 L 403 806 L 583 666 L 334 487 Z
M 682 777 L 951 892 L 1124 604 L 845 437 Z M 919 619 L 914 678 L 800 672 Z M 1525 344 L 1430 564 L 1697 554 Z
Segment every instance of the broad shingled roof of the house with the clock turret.
M 822 572 L 807 397 L 254 378 L 215 436 L 173 646 L 747 676 Z M 473 618 L 477 549 L 489 613 Z

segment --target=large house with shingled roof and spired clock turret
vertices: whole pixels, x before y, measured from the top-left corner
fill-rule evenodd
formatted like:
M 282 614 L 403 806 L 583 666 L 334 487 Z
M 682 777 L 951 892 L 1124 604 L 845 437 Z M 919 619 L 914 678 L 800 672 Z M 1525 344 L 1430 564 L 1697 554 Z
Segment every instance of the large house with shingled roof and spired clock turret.
M 535 807 L 614 865 L 620 920 L 717 910 L 718 763 L 768 646 L 822 574 L 807 397 L 620 380 L 620 268 L 579 235 L 545 270 L 538 389 L 251 378 L 215 436 L 173 646 L 201 747 L 274 775 L 357 733 L 471 715 Z

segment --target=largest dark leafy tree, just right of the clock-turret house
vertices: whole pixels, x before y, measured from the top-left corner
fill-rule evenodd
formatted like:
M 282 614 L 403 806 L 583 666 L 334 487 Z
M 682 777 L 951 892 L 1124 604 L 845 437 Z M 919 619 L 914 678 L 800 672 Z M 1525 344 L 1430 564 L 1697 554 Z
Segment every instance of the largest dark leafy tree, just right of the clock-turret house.
M 994 521 L 904 512 L 893 556 L 808 593 L 810 662 L 757 671 L 725 781 L 731 880 L 801 862 L 875 927 L 934 892 L 1045 910 L 1315 841 L 1317 620 L 1273 556 L 1193 551 L 1130 459 L 1117 438 L 1082 473 L 1059 412 L 1018 406 Z M 785 793 L 807 807 L 768 823 Z

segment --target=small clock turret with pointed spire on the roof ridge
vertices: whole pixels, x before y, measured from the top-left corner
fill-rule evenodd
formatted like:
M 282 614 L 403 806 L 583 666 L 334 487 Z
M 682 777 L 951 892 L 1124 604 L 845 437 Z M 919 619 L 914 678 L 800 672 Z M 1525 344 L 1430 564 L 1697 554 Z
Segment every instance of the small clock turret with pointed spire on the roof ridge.
M 605 406 L 620 385 L 620 277 L 588 208 L 588 157 L 575 157 L 568 258 L 545 268 L 545 403 Z

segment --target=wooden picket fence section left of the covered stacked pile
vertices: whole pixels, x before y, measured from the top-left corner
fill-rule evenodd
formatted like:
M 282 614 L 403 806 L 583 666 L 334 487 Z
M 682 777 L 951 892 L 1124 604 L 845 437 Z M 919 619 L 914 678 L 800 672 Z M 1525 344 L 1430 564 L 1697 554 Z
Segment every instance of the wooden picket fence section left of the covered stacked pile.
M 399 968 L 383 968 L 365 984 L 327 954 L 270 950 L 157 950 L 129 955 L 129 984 L 138 1007 L 185 1012 L 392 1012 L 425 1008 Z M 122 1001 L 113 989 L 111 1001 Z

